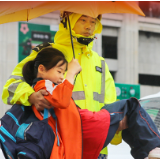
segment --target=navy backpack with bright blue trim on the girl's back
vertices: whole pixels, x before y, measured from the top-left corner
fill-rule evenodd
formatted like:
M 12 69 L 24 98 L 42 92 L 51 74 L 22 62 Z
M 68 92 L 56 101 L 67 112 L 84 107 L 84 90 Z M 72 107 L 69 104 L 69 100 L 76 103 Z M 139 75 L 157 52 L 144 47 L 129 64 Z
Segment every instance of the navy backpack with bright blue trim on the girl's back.
M 0 146 L 6 159 L 50 158 L 55 134 L 48 125 L 48 112 L 44 110 L 41 121 L 31 106 L 15 104 L 5 113 L 1 118 Z

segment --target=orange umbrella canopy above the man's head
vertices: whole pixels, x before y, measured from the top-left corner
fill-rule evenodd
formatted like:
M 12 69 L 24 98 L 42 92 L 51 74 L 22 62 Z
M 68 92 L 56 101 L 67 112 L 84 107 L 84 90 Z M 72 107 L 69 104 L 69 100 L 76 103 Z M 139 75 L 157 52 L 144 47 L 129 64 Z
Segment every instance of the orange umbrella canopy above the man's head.
M 132 13 L 145 16 L 135 1 L 0 1 L 0 24 L 28 21 L 56 10 L 94 18 L 104 13 Z

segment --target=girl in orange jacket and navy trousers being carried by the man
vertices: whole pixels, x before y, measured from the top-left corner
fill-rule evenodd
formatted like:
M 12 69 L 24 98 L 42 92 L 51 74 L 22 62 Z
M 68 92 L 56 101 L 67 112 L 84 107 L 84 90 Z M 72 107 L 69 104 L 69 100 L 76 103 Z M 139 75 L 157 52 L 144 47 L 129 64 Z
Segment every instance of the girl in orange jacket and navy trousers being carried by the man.
M 23 67 L 25 81 L 33 85 L 36 92 L 45 89 L 49 93 L 45 98 L 52 104 L 57 116 L 66 157 L 81 158 L 76 155 L 83 153 L 83 158 L 95 159 L 116 131 L 123 130 L 123 139 L 130 145 L 134 158 L 148 155 L 149 158 L 160 158 L 160 134 L 137 99 L 106 105 L 99 112 L 76 106 L 72 90 L 74 77 L 80 71 L 81 66 L 76 59 L 68 64 L 64 55 L 54 48 L 43 49 L 34 61 L 27 62 Z M 37 116 L 43 115 L 35 106 L 32 108 Z

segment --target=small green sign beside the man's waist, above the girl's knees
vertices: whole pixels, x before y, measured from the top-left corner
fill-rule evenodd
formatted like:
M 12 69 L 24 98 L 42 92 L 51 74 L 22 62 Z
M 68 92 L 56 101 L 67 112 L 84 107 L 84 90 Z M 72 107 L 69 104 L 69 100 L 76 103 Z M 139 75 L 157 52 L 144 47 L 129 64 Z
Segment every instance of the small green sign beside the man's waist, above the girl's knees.
M 140 85 L 115 83 L 117 99 L 140 98 Z

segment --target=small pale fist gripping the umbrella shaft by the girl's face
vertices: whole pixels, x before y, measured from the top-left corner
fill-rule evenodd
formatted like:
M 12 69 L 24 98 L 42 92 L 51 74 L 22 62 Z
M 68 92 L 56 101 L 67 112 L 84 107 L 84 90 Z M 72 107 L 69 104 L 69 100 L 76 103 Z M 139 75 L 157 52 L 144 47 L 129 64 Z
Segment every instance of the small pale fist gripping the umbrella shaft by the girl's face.
M 70 63 L 68 63 L 68 72 L 76 75 L 82 70 L 77 59 L 72 59 Z

